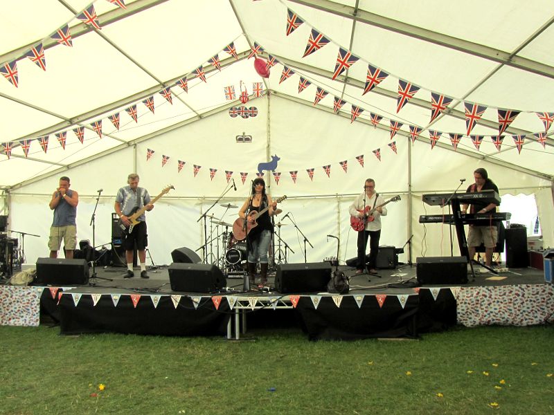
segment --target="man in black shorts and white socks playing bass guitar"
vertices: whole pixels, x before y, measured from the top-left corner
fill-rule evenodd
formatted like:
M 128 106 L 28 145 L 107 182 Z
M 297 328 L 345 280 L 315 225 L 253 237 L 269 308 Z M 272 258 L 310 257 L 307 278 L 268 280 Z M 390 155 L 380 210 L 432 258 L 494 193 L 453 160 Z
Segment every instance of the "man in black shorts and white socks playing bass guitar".
M 154 205 L 150 203 L 150 194 L 148 194 L 148 190 L 139 187 L 139 180 L 138 174 L 129 174 L 129 176 L 127 176 L 128 185 L 121 187 L 117 192 L 114 208 L 121 222 L 127 228 L 131 225 L 128 216 L 131 216 L 141 208 L 145 208 L 145 210 L 149 212 L 154 209 Z M 145 215 L 142 214 L 136 219 L 139 223 L 134 225 L 131 232 L 128 232 L 127 229 L 121 231 L 121 241 L 123 243 L 123 248 L 125 248 L 125 259 L 127 261 L 127 273 L 125 274 L 125 278 L 134 277 L 133 251 L 135 242 L 136 250 L 139 254 L 139 261 L 141 263 L 141 278 L 148 278 L 148 273 L 146 272 L 146 247 L 148 246 L 146 218 Z

